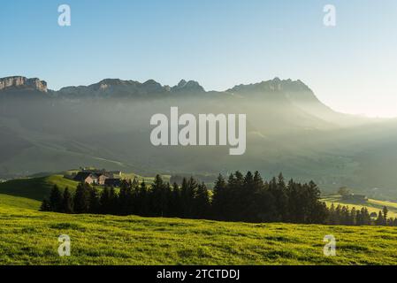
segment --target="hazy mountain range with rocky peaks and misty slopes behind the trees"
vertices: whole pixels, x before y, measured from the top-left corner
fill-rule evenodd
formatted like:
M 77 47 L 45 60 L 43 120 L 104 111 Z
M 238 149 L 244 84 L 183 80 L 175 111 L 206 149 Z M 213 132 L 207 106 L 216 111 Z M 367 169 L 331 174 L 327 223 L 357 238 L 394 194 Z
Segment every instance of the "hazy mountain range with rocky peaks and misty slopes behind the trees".
M 247 114 L 247 153 L 230 157 L 227 147 L 153 147 L 149 119 L 171 106 L 193 114 Z M 350 186 L 397 198 L 395 129 L 393 119 L 333 111 L 301 80 L 206 91 L 195 80 L 170 87 L 155 80 L 106 79 L 55 91 L 39 79 L 0 79 L 3 179 L 88 165 L 140 174 L 240 169 L 312 179 L 325 191 Z

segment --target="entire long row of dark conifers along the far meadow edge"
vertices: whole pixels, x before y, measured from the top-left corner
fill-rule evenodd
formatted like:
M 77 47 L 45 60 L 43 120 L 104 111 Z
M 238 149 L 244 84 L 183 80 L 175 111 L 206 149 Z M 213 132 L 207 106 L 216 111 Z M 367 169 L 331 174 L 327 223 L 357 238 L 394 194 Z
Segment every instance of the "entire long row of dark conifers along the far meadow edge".
M 282 174 L 264 181 L 258 172 L 248 172 L 245 176 L 235 172 L 227 180 L 219 175 L 212 194 L 194 178 L 184 178 L 180 185 L 171 186 L 159 175 L 150 186 L 136 179 L 123 180 L 118 191 L 114 187 L 98 190 L 81 183 L 71 194 L 68 188 L 61 192 L 55 186 L 50 198 L 42 202 L 42 210 L 297 224 L 393 225 L 397 222 L 387 219 L 387 212 L 374 221 L 368 210 L 333 205 L 327 209 L 314 182 L 286 183 Z

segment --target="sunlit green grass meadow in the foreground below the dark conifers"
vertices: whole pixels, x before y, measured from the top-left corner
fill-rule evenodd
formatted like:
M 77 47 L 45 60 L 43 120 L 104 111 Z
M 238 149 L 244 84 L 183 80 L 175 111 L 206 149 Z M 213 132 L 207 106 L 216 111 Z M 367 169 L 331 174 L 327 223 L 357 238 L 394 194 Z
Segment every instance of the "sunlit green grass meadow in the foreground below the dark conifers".
M 0 264 L 397 264 L 397 228 L 64 215 L 0 195 Z M 57 255 L 57 237 L 72 256 Z M 324 236 L 337 256 L 324 256 Z

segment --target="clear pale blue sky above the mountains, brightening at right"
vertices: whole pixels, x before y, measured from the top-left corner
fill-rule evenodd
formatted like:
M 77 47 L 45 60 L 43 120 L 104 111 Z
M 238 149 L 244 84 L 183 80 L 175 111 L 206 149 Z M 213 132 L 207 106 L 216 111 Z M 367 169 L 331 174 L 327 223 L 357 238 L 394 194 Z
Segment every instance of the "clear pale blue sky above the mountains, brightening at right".
M 71 7 L 71 27 L 57 23 Z M 324 26 L 324 5 L 336 26 Z M 0 77 L 225 90 L 302 80 L 336 111 L 397 117 L 395 0 L 1 0 Z

